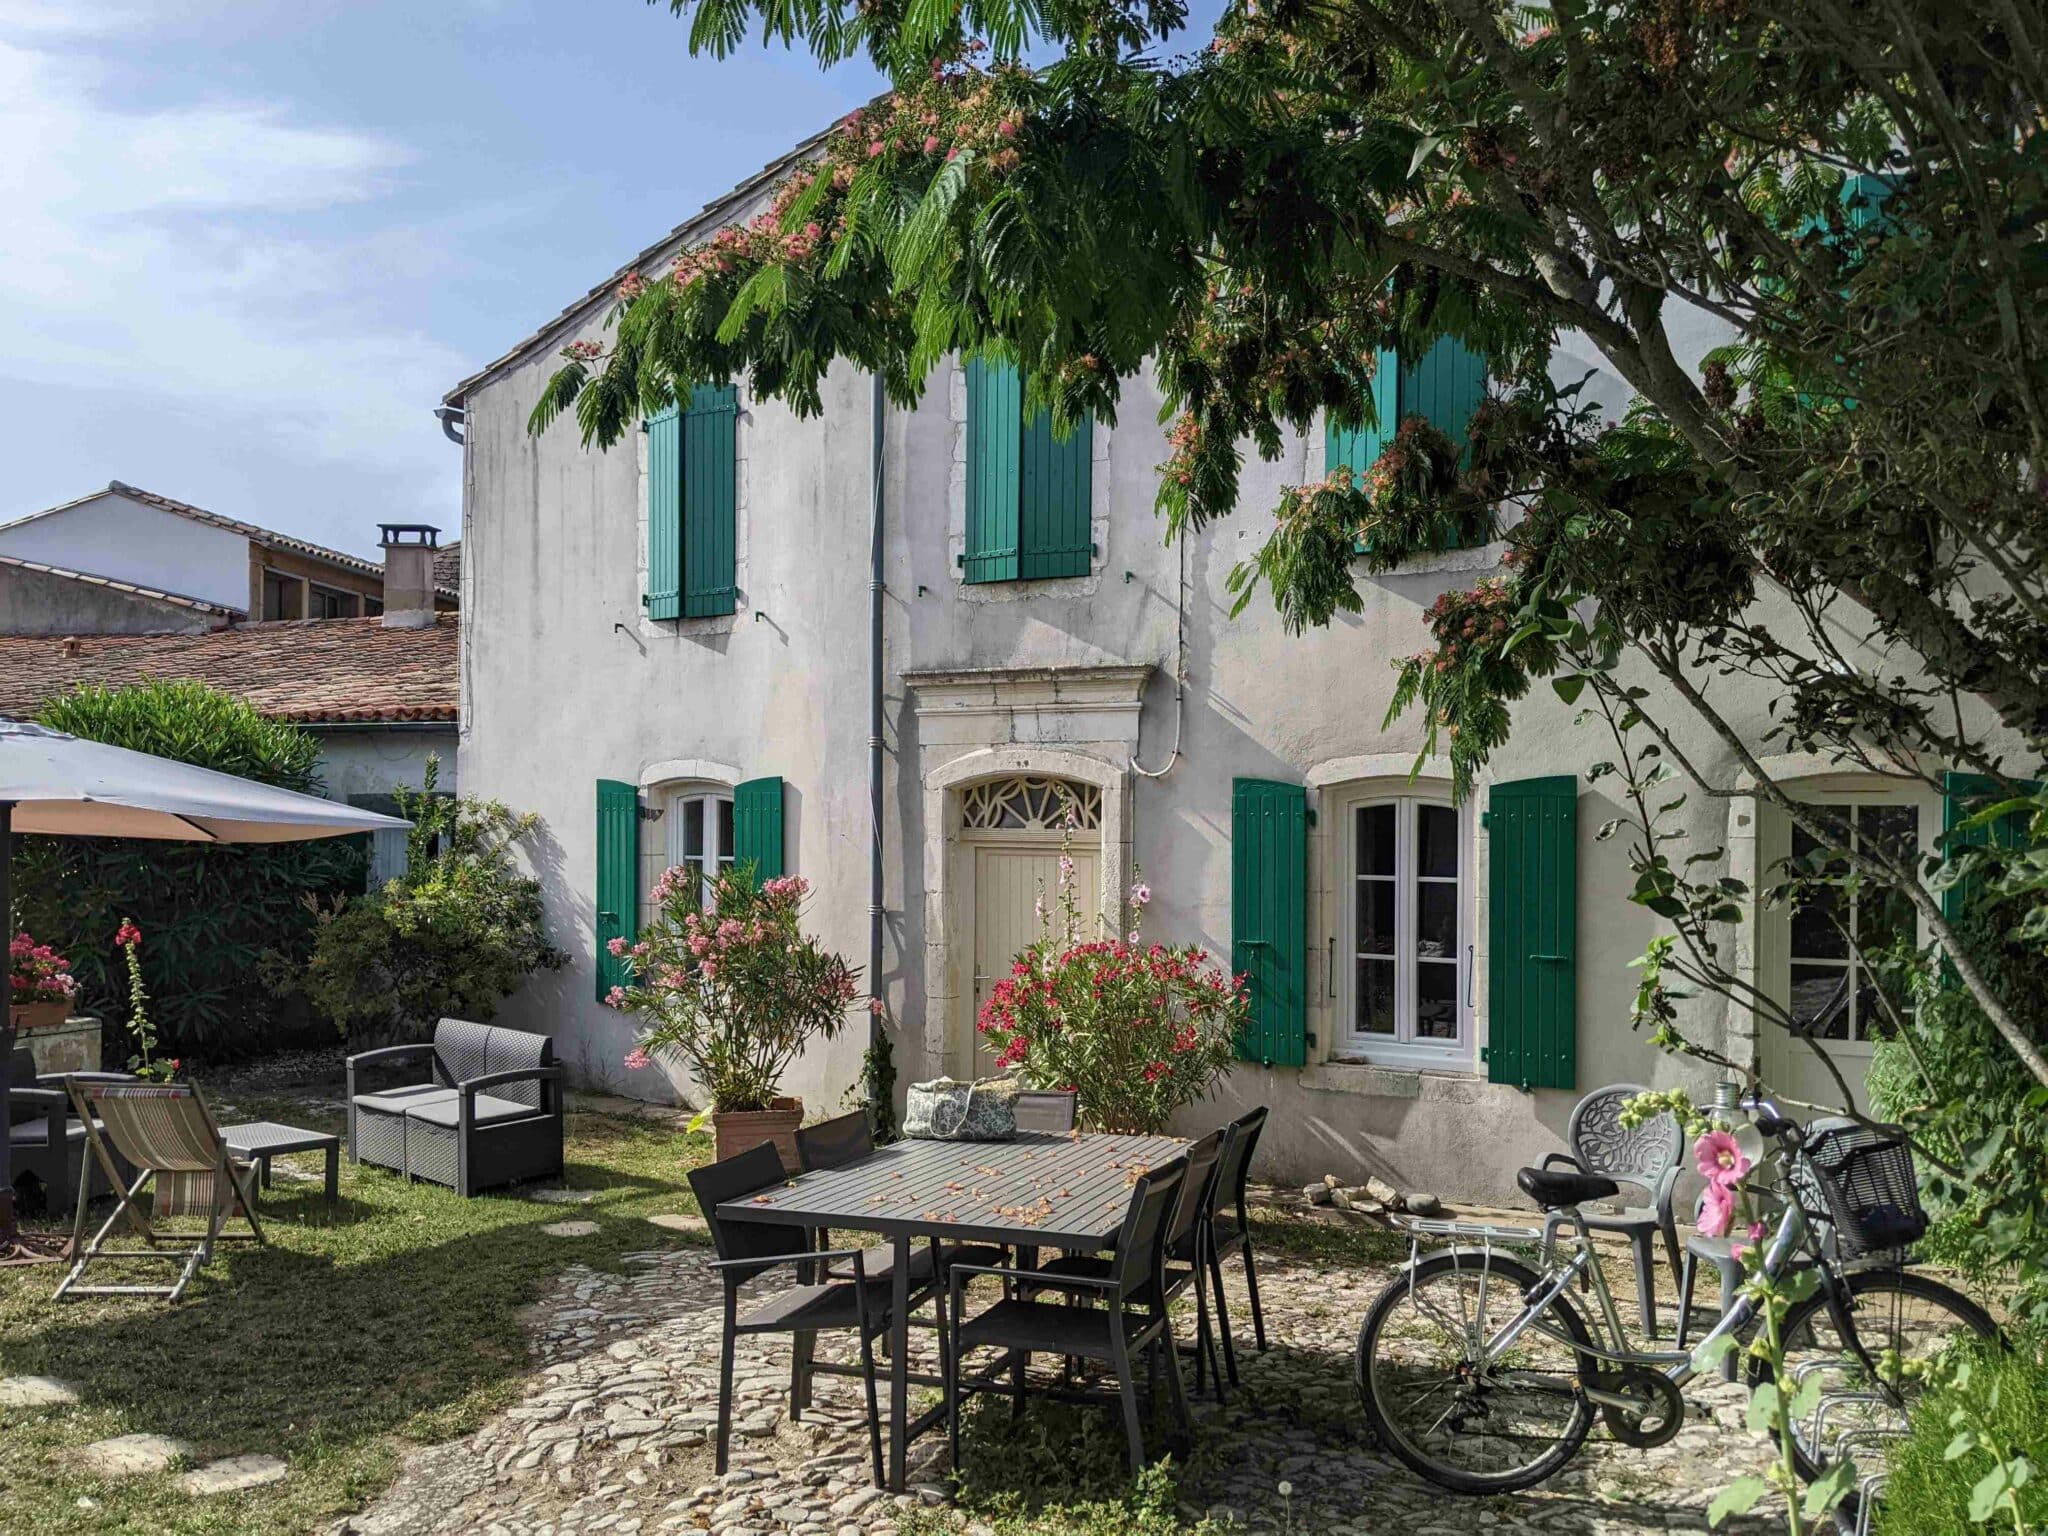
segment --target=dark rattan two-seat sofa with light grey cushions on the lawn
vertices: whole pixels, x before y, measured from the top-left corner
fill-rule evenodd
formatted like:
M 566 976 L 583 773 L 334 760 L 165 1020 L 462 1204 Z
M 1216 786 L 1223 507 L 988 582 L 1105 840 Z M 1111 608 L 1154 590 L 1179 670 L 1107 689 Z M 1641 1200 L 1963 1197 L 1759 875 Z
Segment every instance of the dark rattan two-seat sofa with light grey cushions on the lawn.
M 356 1092 L 367 1065 L 428 1059 L 424 1083 Z M 545 1034 L 444 1018 L 430 1044 L 348 1057 L 348 1159 L 469 1196 L 561 1176 L 561 1067 Z

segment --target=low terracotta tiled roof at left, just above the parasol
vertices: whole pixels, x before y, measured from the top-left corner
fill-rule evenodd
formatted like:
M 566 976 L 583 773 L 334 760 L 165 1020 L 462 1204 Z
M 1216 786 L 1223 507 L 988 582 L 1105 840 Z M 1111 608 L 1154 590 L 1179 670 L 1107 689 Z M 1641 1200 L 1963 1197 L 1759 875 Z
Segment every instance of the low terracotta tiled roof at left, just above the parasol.
M 377 618 L 299 618 L 209 635 L 0 635 L 0 715 L 33 715 L 80 682 L 199 678 L 270 719 L 453 721 L 459 618 L 385 629 Z

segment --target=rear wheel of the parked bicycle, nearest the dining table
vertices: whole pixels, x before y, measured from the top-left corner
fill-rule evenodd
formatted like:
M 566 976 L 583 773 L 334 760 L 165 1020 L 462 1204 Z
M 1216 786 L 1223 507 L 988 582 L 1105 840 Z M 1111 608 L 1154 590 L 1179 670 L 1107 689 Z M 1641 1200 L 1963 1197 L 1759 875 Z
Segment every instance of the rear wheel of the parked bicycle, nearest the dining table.
M 1434 1253 L 1366 1313 L 1358 1331 L 1366 1417 L 1382 1446 L 1438 1487 L 1511 1493 L 1542 1483 L 1593 1427 L 1579 1378 L 1595 1360 L 1577 1348 L 1591 1339 L 1563 1296 L 1538 1319 L 1548 1333 L 1532 1325 L 1501 1358 L 1479 1360 L 1538 1282 L 1513 1260 Z

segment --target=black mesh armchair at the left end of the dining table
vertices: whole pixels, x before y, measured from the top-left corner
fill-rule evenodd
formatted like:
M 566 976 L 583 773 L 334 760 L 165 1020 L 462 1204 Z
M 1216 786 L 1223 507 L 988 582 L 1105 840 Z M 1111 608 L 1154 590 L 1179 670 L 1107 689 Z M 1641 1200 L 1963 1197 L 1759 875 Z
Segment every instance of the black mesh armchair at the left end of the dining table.
M 711 1225 L 711 1243 L 719 1257 L 711 1264 L 725 1280 L 725 1329 L 719 1341 L 719 1475 L 725 1473 L 733 1432 L 733 1346 L 741 1333 L 788 1333 L 793 1354 L 788 1368 L 788 1417 L 803 1419 L 811 1403 L 811 1376 L 860 1376 L 868 1393 L 868 1458 L 874 1485 L 883 1487 L 883 1419 L 874 1399 L 874 1335 L 889 1327 L 889 1290 L 864 1268 L 866 1251 L 846 1247 L 819 1253 L 813 1233 L 803 1227 L 780 1227 L 766 1221 L 729 1221 L 719 1217 L 727 1200 L 743 1200 L 760 1190 L 786 1182 L 782 1155 L 770 1145 L 748 1147 L 721 1163 L 690 1171 L 696 1206 Z M 852 1280 L 811 1284 L 805 1276 L 817 1264 L 846 1262 Z M 739 1288 L 780 1266 L 795 1266 L 799 1282 L 739 1313 Z M 911 1305 L 922 1300 L 911 1292 Z M 860 1335 L 860 1366 L 831 1366 L 811 1360 L 817 1333 L 854 1329 Z

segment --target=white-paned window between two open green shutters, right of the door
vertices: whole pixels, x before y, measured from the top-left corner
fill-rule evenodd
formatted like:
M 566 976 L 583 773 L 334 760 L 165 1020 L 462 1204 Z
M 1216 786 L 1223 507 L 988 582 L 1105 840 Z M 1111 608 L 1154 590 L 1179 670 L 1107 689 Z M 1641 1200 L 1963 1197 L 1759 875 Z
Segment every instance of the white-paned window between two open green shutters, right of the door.
M 1384 797 L 1346 807 L 1337 948 L 1339 1042 L 1352 1055 L 1466 1055 L 1466 838 L 1448 801 Z

